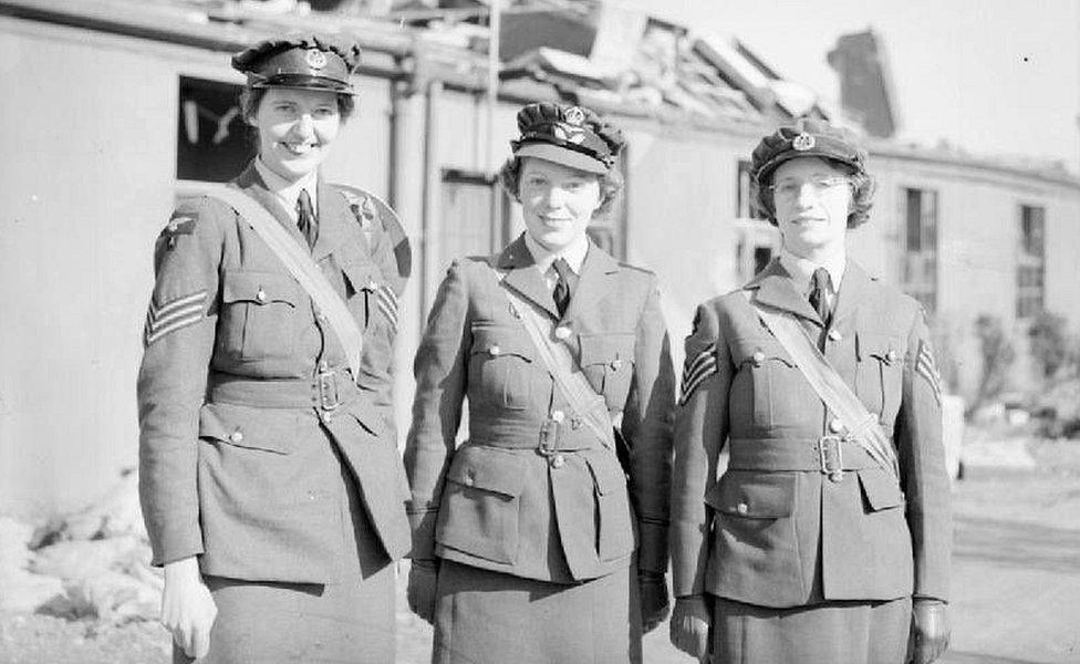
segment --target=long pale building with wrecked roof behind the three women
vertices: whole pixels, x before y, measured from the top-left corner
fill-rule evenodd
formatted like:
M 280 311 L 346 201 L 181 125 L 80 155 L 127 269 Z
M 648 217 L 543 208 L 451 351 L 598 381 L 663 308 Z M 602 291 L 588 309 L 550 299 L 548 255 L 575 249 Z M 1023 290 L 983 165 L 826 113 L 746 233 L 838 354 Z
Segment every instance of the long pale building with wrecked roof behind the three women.
M 154 239 L 178 197 L 222 186 L 250 158 L 229 55 L 287 31 L 336 32 L 365 51 L 359 112 L 324 173 L 390 200 L 413 243 L 403 423 L 450 259 L 523 228 L 494 174 L 517 108 L 538 100 L 594 107 L 627 134 L 624 196 L 591 234 L 660 274 L 676 362 L 694 307 L 776 252 L 777 234 L 749 206 L 749 154 L 800 116 L 865 136 L 879 189 L 853 252 L 932 313 L 954 390 L 977 380 L 979 314 L 1017 330 L 1042 310 L 1080 322 L 1080 181 L 1056 165 L 891 138 L 897 100 L 872 33 L 830 53 L 844 77 L 834 105 L 737 39 L 599 1 L 505 4 L 492 105 L 486 2 L 0 0 L 13 153 L 0 164 L 0 510 L 72 509 L 135 463 Z

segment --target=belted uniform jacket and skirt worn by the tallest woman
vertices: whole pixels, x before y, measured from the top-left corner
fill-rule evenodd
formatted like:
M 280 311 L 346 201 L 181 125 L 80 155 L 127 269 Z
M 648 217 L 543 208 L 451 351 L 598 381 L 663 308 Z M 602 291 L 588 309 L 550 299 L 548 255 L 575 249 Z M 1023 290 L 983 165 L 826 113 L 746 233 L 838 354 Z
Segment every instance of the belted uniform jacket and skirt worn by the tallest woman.
M 253 167 L 233 186 L 304 243 Z M 393 658 L 391 562 L 408 549 L 391 408 L 402 284 L 362 200 L 320 184 L 318 201 L 313 258 L 364 331 L 359 386 L 311 298 L 230 207 L 181 205 L 156 247 L 139 492 L 154 563 L 199 557 L 219 610 L 207 662 Z

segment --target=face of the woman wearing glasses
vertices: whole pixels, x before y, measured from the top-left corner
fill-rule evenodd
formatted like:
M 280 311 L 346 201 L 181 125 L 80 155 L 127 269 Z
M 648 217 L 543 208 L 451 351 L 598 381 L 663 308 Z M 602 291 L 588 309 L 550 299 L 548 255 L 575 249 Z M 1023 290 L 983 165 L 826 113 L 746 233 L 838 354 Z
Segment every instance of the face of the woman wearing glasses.
M 811 257 L 843 246 L 851 209 L 848 174 L 818 157 L 799 157 L 772 175 L 772 205 L 783 246 Z

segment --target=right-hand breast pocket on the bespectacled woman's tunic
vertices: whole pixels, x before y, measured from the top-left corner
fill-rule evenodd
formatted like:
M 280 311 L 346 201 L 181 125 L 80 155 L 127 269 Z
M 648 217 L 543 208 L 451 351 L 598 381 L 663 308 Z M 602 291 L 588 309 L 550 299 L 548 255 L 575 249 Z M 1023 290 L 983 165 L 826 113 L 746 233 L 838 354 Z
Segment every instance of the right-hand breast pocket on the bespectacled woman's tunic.
M 904 380 L 904 346 L 899 336 L 858 332 L 855 390 L 866 408 L 883 423 L 896 418 Z

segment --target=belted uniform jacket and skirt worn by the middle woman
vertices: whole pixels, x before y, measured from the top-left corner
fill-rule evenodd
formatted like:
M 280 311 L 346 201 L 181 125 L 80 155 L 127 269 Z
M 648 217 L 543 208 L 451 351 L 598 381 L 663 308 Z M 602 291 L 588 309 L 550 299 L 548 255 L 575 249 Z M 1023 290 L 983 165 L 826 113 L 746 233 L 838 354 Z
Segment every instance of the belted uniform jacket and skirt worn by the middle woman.
M 629 487 L 555 387 L 502 279 L 621 423 Z M 522 238 L 460 260 L 432 309 L 416 382 L 405 466 L 413 557 L 443 560 L 435 661 L 638 660 L 635 551 L 641 569 L 667 567 L 674 376 L 656 278 L 590 245 L 560 318 Z M 456 448 L 466 398 L 469 437 Z

